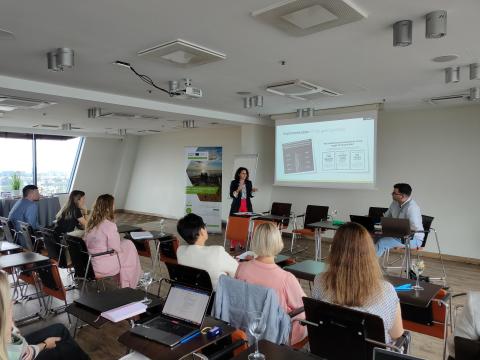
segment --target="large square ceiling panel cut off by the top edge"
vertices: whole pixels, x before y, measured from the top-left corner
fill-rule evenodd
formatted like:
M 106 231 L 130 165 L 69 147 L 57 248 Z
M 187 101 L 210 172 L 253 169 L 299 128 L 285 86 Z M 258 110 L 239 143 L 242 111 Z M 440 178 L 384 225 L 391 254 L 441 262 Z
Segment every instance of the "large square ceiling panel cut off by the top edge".
M 367 17 L 348 0 L 286 0 L 253 11 L 252 16 L 294 36 L 310 35 Z

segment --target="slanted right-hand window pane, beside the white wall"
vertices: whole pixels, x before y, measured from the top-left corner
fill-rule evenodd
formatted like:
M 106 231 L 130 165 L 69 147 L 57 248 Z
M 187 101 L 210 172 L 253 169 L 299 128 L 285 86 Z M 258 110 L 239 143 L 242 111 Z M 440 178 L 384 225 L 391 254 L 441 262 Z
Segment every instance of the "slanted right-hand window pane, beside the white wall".
M 80 140 L 36 140 L 37 186 L 41 194 L 70 191 Z

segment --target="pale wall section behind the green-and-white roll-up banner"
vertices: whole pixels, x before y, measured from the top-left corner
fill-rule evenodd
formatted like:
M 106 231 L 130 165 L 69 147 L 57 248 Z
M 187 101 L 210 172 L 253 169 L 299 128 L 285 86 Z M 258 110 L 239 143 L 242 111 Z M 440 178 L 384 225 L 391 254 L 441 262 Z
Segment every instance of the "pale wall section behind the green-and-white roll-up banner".
M 240 127 L 188 129 L 140 139 L 125 209 L 179 218 L 185 207 L 185 147 L 223 146 L 222 218 L 230 211 L 233 158 Z

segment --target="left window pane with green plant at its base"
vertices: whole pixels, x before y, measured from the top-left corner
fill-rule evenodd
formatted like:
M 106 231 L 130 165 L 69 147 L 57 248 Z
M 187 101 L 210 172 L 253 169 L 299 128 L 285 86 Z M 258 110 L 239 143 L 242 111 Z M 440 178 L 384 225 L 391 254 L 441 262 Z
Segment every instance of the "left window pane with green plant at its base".
M 12 191 L 12 176 L 18 175 L 20 189 L 33 184 L 32 140 L 0 138 L 0 192 Z

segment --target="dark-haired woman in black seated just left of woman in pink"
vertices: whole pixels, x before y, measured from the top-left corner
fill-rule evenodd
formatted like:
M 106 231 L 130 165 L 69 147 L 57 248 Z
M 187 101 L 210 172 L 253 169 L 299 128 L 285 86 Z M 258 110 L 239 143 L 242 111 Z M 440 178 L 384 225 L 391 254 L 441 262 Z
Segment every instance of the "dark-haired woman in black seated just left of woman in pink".
M 55 235 L 77 230 L 84 230 L 87 225 L 87 210 L 85 208 L 85 193 L 80 190 L 73 190 L 67 202 L 57 214 Z

